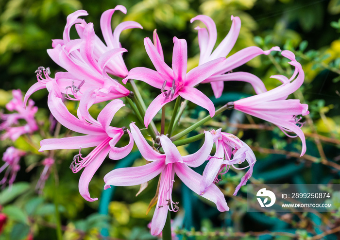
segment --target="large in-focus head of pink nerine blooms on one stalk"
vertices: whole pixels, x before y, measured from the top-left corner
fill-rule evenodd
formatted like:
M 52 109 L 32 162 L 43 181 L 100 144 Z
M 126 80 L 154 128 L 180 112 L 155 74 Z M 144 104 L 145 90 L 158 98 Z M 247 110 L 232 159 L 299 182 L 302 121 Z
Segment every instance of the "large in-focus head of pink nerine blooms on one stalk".
M 175 138 L 171 137 L 177 112 L 176 106 L 178 107 L 181 98 L 203 107 L 209 112 L 211 118 L 215 116 L 215 106 L 202 91 L 196 88 L 199 84 L 210 83 L 215 97 L 219 98 L 223 91 L 224 81 L 250 83 L 254 87 L 255 96 L 226 103 L 221 109 L 236 109 L 270 121 L 285 133 L 295 133 L 302 140 L 301 154 L 306 152 L 305 137 L 300 129 L 302 124 L 299 123 L 301 118 L 297 116 L 308 114 L 308 106 L 301 104 L 299 100 L 287 99 L 289 94 L 296 91 L 304 81 L 303 69 L 292 52 L 282 51 L 281 54 L 288 58 L 289 64 L 295 68 L 294 74 L 289 79 L 283 75 L 272 76 L 281 81 L 282 85 L 267 91 L 263 82 L 255 75 L 231 71 L 260 54 L 268 55 L 280 49 L 273 47 L 263 51 L 258 47 L 248 47 L 226 58 L 237 41 L 241 26 L 240 18 L 231 17 L 231 30 L 213 51 L 217 39 L 215 23 L 210 17 L 199 15 L 191 19 L 191 22 L 199 20 L 206 26 L 206 28 L 196 28 L 200 47 L 200 60 L 196 68 L 188 71 L 187 41 L 177 37 L 173 37 L 170 68 L 164 61 L 162 45 L 155 30 L 153 41 L 148 37 L 144 39 L 145 50 L 155 70 L 145 67 L 128 70 L 122 55 L 127 50 L 121 47 L 119 35 L 123 30 L 142 29 L 142 26 L 134 21 L 126 21 L 120 23 L 112 31 L 111 18 L 115 11 L 126 13 L 125 7 L 119 5 L 105 11 L 100 20 L 105 43 L 95 34 L 93 23 L 86 23 L 80 18 L 87 15 L 84 10 L 70 14 L 63 39 L 53 40 L 52 49 L 48 50 L 52 60 L 65 71 L 57 72 L 52 78 L 49 68 L 39 67 L 36 70 L 38 82 L 28 90 L 24 99 L 25 105 L 29 103 L 26 107 L 27 111 L 32 108 L 32 102 L 28 101 L 29 97 L 35 91 L 47 88 L 49 91 L 48 106 L 54 118 L 69 130 L 83 134 L 75 137 L 44 139 L 40 142 L 39 151 L 79 149 L 79 153 L 70 160 L 70 169 L 73 172 L 84 169 L 79 179 L 79 191 L 87 201 L 97 200 L 97 198 L 90 197 L 88 186 L 106 156 L 114 160 L 122 159 L 132 151 L 136 143 L 139 152 L 149 163 L 108 172 L 104 177 L 104 188 L 110 188 L 111 185 L 144 184 L 160 175 L 159 188 L 156 193 L 157 204 L 151 223 L 153 235 L 161 233 L 168 211 L 179 210 L 179 203 L 172 199 L 171 194 L 175 175 L 189 189 L 215 203 L 219 211 L 229 210 L 223 193 L 215 184 L 218 182 L 218 176 L 228 171 L 231 165 L 239 169 L 234 165 L 247 161 L 246 168 L 249 170 L 236 187 L 234 195 L 237 194 L 253 172 L 256 159 L 250 147 L 238 137 L 222 132 L 221 129 L 206 130 L 202 147 L 196 153 L 181 155 L 174 144 Z M 75 27 L 79 36 L 76 39 L 70 38 L 72 26 Z M 112 76 L 123 79 L 119 81 L 113 79 Z M 160 94 L 148 107 L 145 107 L 143 99 L 138 97 L 140 93 L 133 80 L 143 81 L 160 89 Z M 125 87 L 128 83 L 133 88 L 132 92 Z M 136 121 L 139 120 L 147 127 L 153 138 L 151 141 L 143 136 L 142 129 L 138 127 L 139 122 L 137 124 L 132 122 L 129 128 L 110 125 L 114 115 L 120 109 L 125 108 L 125 104 L 120 99 L 123 97 L 135 111 Z M 71 114 L 66 107 L 65 101 L 68 100 L 79 101 L 77 116 Z M 153 119 L 161 108 L 174 100 L 176 104 L 169 125 L 171 130 L 165 134 L 165 118 L 162 117 L 160 131 L 155 128 Z M 97 119 L 94 119 L 90 115 L 89 108 L 95 103 L 103 102 L 106 102 L 105 107 L 102 108 Z M 124 147 L 117 147 L 120 138 L 125 134 L 129 136 L 129 142 Z M 211 155 L 214 146 L 216 152 Z M 89 147 L 94 147 L 94 149 L 87 156 L 83 156 L 81 149 Z M 201 166 L 206 161 L 203 175 L 192 169 Z M 46 162 L 45 175 L 49 165 L 51 165 L 50 162 Z M 226 168 L 225 171 L 224 168 Z M 45 178 L 45 175 L 42 178 Z

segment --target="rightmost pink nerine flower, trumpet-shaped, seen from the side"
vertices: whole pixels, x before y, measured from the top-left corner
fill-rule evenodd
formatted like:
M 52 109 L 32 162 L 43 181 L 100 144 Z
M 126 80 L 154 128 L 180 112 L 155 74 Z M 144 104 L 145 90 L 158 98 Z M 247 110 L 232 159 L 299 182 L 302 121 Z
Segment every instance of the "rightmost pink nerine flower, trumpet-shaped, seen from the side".
M 298 99 L 287 99 L 289 94 L 296 91 L 304 82 L 305 73 L 301 64 L 295 60 L 291 51 L 282 51 L 282 56 L 287 57 L 295 71 L 290 79 L 283 75 L 274 75 L 272 78 L 280 80 L 283 84 L 268 92 L 227 103 L 230 109 L 237 109 L 257 118 L 270 121 L 278 126 L 288 137 L 299 136 L 302 141 L 301 156 L 306 153 L 306 139 L 301 130 L 303 125 L 297 115 L 309 114 L 308 105 L 301 104 Z M 296 125 L 298 124 L 298 125 Z M 293 132 L 296 136 L 290 136 L 287 132 Z

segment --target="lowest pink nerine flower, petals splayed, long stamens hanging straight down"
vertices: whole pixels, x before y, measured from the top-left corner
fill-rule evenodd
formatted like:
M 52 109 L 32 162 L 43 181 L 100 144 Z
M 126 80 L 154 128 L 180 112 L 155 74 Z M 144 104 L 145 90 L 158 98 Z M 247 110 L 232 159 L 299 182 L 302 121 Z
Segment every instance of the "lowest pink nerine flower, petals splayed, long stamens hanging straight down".
M 173 202 L 171 197 L 175 173 L 189 189 L 197 194 L 200 193 L 202 176 L 189 167 L 198 167 L 208 158 L 213 146 L 213 138 L 210 132 L 205 132 L 205 141 L 202 148 L 194 154 L 181 156 L 171 140 L 167 136 L 162 135 L 160 137 L 160 144 L 165 154 L 160 154 L 147 143 L 134 123 L 130 124 L 130 128 L 140 153 L 151 163 L 140 167 L 121 168 L 110 171 L 104 177 L 104 188 L 110 188 L 110 185 L 139 185 L 161 173 L 158 201 L 151 223 L 151 234 L 158 235 L 164 227 L 168 210 L 175 212 L 178 210 L 178 203 Z M 214 202 L 219 211 L 229 210 L 223 193 L 215 185 L 207 187 L 202 197 Z

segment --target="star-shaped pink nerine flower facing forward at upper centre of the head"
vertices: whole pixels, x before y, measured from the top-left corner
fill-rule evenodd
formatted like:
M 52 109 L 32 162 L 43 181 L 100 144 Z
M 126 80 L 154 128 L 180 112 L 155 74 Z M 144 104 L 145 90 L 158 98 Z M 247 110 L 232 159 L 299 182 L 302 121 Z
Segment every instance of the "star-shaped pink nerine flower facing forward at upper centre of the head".
M 131 69 L 128 76 L 123 79 L 123 83 L 125 84 L 128 79 L 136 79 L 161 89 L 161 94 L 153 100 L 146 110 L 144 118 L 145 126 L 149 125 L 153 117 L 163 105 L 173 101 L 178 96 L 204 107 L 209 111 L 211 117 L 214 116 L 214 104 L 201 91 L 194 88 L 194 86 L 220 70 L 225 58 L 221 57 L 213 61 L 209 61 L 187 73 L 187 41 L 174 37 L 171 69 L 164 62 L 163 52 L 158 36 L 154 37 L 154 39 L 156 39 L 155 46 L 148 37 L 144 39 L 144 45 L 145 50 L 157 71 L 138 67 Z

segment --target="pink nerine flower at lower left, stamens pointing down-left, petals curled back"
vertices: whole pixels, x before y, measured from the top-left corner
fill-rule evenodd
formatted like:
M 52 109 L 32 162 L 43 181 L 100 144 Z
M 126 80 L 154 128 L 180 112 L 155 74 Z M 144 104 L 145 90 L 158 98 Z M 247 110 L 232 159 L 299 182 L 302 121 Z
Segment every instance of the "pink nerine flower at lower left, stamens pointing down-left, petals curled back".
M 55 82 L 51 82 L 47 87 L 50 91 L 48 105 L 54 118 L 68 129 L 86 135 L 44 139 L 40 142 L 41 148 L 39 151 L 79 149 L 79 154 L 74 156 L 70 169 L 73 172 L 78 172 L 84 168 L 79 179 L 79 192 L 87 201 L 96 201 L 98 198 L 91 198 L 88 192 L 88 184 L 94 173 L 102 165 L 107 154 L 111 159 L 121 159 L 131 152 L 134 145 L 131 133 L 126 130 L 130 136 L 130 142 L 125 147 L 115 147 L 123 136 L 124 129 L 110 126 L 116 112 L 125 104 L 119 99 L 108 103 L 98 115 L 97 120 L 95 120 L 88 113 L 88 109 L 96 102 L 97 95 L 94 91 L 88 91 L 79 103 L 78 118 L 76 118 L 68 112 L 62 102 L 60 92 L 55 90 L 58 87 Z M 95 147 L 95 149 L 86 157 L 83 157 L 80 153 L 81 149 L 89 147 Z

